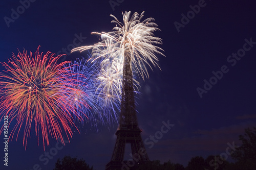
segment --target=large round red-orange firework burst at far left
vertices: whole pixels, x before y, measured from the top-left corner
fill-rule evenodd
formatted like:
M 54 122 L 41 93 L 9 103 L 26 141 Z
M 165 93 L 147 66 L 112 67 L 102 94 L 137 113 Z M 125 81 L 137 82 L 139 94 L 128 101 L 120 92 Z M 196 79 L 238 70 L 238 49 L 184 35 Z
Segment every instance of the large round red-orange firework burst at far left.
M 74 88 L 70 84 L 63 83 L 63 75 L 70 72 L 63 68 L 68 61 L 57 64 L 61 55 L 54 57 L 54 54 L 47 52 L 43 55 L 37 51 L 28 55 L 24 50 L 13 54 L 8 63 L 2 63 L 4 72 L 0 72 L 0 115 L 10 117 L 9 123 L 16 119 L 16 125 L 11 131 L 10 139 L 17 132 L 24 129 L 23 144 L 27 148 L 27 140 L 30 137 L 31 128 L 34 125 L 39 145 L 39 133 L 45 149 L 45 141 L 49 145 L 49 136 L 55 139 L 60 138 L 63 142 L 62 132 L 69 138 L 72 137 L 71 126 L 73 123 L 73 113 L 67 109 L 63 102 L 57 103 L 66 98 L 59 91 L 66 88 L 72 91 Z M 77 80 L 73 80 L 75 84 Z M 71 106 L 70 106 L 71 108 Z M 73 109 L 76 114 L 75 109 Z M 9 124 L 10 125 L 10 124 Z M 3 127 L 0 132 L 3 132 Z

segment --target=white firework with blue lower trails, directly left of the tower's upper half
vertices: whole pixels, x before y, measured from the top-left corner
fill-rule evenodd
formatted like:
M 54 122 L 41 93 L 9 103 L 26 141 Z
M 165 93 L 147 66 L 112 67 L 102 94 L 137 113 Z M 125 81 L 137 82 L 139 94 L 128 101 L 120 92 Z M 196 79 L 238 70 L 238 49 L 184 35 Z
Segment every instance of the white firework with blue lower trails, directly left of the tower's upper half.
M 102 36 L 102 39 L 105 37 Z M 111 39 L 105 39 L 103 47 L 94 47 L 89 61 L 99 62 L 100 70 L 96 78 L 97 102 L 100 113 L 108 124 L 117 122 L 122 95 L 123 59 L 115 53 L 116 47 Z M 135 81 L 137 84 L 138 82 Z M 137 87 L 137 86 L 136 86 Z

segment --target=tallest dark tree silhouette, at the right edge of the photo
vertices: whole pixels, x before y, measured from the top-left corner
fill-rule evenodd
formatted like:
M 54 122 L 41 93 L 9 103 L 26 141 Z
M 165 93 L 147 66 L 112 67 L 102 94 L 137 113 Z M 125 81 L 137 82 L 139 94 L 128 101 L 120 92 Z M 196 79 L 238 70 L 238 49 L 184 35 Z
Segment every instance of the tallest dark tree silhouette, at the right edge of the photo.
M 236 160 L 234 169 L 256 169 L 256 128 L 245 129 L 245 134 L 239 136 L 242 145 L 238 147 L 231 157 Z

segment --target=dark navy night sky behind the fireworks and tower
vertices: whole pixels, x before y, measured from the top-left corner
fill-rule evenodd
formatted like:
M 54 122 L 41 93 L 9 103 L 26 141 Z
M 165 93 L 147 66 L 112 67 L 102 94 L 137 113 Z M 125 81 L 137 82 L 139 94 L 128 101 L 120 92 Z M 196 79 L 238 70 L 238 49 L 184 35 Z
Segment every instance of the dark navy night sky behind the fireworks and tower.
M 91 32 L 109 32 L 114 27 L 110 14 L 122 20 L 121 12 L 145 11 L 144 19 L 155 18 L 161 29 L 155 35 L 163 39 L 160 47 L 166 57 L 159 56 L 161 70 L 154 68 L 150 79 L 138 80 L 141 94 L 136 96 L 141 136 L 151 160 L 186 166 L 194 156 L 206 158 L 225 153 L 227 143 L 241 144 L 239 135 L 256 126 L 254 1 L 113 0 L 117 3 L 113 7 L 107 0 L 31 0 L 30 5 L 25 4 L 27 9 L 19 7 L 21 2 L 1 2 L 1 62 L 7 62 L 12 53 L 17 55 L 17 49 L 35 52 L 40 45 L 44 54 L 64 54 L 62 48 L 71 49 L 73 44 L 94 44 L 100 37 Z M 201 6 L 200 10 L 195 5 Z M 17 9 L 19 16 L 12 16 Z M 8 22 L 7 17 L 15 19 Z M 80 57 L 87 53 L 75 52 L 62 60 Z M 164 134 L 160 133 L 163 122 L 174 125 Z M 104 169 L 112 156 L 118 123 L 99 126 L 98 131 L 88 125 L 77 126 L 80 134 L 74 129 L 64 147 L 50 139 L 46 152 L 58 150 L 49 159 L 42 142 L 37 145 L 33 128 L 26 151 L 22 133 L 17 141 L 9 142 L 8 167 L 4 166 L 1 142 L 0 169 L 30 170 L 35 164 L 53 169 L 57 159 L 66 155 L 83 158 L 96 170 Z M 151 135 L 159 139 L 152 140 Z M 4 141 L 3 134 L 0 138 Z M 131 158 L 129 152 L 125 159 Z

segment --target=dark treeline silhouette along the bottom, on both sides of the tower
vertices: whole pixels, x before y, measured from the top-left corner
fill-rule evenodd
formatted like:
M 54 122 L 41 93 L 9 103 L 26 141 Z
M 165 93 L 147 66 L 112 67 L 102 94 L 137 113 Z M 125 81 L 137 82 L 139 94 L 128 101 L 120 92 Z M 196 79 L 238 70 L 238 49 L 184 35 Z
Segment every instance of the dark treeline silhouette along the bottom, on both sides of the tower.
M 256 127 L 245 129 L 244 135 L 239 135 L 242 145 L 230 150 L 230 156 L 234 162 L 228 162 L 221 155 L 210 155 L 206 159 L 196 156 L 190 159 L 187 166 L 179 163 L 172 163 L 170 160 L 160 163 L 159 160 L 149 161 L 140 164 L 138 168 L 128 167 L 125 170 L 255 170 L 256 169 Z M 57 160 L 54 170 L 94 170 L 83 159 L 77 160 L 70 156 L 65 156 L 61 161 Z

